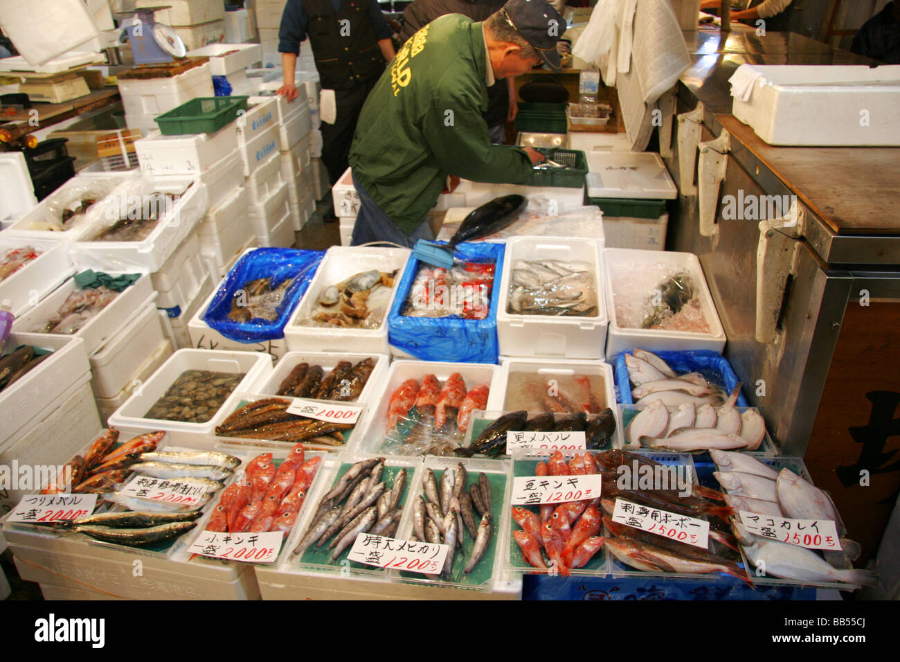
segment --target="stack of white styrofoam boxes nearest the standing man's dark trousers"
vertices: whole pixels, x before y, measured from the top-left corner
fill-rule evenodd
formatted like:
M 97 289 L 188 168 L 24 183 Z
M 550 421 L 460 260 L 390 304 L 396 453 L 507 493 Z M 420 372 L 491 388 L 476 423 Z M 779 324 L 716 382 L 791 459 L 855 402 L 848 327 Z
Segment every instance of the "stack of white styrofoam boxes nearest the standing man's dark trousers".
M 275 91 L 277 81 L 264 83 L 260 91 Z M 280 164 L 287 182 L 293 229 L 301 230 L 316 209 L 310 171 L 311 114 L 305 86 L 297 87 L 297 98 L 288 103 L 282 96 L 251 96 L 250 103 L 273 103 L 277 111 Z M 256 202 L 256 201 L 255 201 Z

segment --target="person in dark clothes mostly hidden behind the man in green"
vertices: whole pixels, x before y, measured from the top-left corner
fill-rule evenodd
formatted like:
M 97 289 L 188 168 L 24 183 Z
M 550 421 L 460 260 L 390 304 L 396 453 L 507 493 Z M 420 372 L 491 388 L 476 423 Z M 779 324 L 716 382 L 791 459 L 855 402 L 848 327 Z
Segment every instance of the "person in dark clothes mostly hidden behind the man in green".
M 503 6 L 503 0 L 413 0 L 403 10 L 401 42 L 405 42 L 419 29 L 445 14 L 463 14 L 473 21 L 484 21 Z M 484 121 L 488 122 L 491 142 L 502 144 L 507 122 L 516 119 L 515 79 L 498 80 L 488 88 L 488 111 Z

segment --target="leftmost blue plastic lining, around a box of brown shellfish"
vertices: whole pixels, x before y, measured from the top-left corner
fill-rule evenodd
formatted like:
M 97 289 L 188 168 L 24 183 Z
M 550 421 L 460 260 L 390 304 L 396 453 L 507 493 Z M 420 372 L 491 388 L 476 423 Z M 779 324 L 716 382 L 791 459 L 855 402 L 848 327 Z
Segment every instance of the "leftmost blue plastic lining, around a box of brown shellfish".
M 224 283 L 212 297 L 209 308 L 203 313 L 203 322 L 223 336 L 238 342 L 258 342 L 284 337 L 284 325 L 291 319 L 293 309 L 300 303 L 302 295 L 316 275 L 324 250 L 297 249 L 256 249 L 238 259 L 229 271 Z M 268 321 L 252 318 L 248 322 L 236 322 L 229 318 L 231 301 L 238 290 L 258 278 L 271 278 L 273 290 L 282 285 L 286 278 L 293 281 L 284 291 L 281 303 L 275 307 L 277 317 Z

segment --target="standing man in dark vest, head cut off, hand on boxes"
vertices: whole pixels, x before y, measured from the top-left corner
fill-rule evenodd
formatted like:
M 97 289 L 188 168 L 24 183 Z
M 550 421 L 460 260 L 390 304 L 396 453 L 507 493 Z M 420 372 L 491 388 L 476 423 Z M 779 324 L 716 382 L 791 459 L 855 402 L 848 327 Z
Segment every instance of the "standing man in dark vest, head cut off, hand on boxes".
M 394 57 L 391 28 L 377 0 L 287 0 L 278 31 L 284 86 L 278 89 L 289 102 L 297 98 L 294 71 L 300 42 L 310 38 L 322 87 L 320 113 L 333 90 L 337 107 L 333 123 L 321 123 L 322 163 L 331 185 L 347 170 L 347 154 L 365 98 Z M 330 195 L 329 195 L 330 199 Z M 337 220 L 334 210 L 327 221 Z

